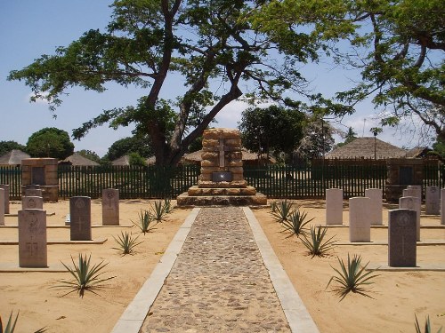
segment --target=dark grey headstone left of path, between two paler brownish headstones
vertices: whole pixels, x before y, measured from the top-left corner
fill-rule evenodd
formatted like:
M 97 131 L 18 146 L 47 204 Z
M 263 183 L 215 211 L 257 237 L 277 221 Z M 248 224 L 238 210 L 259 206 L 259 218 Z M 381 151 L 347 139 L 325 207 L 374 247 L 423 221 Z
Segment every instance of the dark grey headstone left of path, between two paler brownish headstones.
M 91 198 L 89 196 L 69 198 L 69 215 L 71 241 L 91 241 Z

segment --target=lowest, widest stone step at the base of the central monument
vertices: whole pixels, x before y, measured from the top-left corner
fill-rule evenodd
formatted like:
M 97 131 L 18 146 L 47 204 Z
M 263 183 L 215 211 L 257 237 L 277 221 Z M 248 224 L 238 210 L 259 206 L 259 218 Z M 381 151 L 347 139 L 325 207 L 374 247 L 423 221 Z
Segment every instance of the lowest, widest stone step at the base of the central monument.
M 233 188 L 228 188 L 228 190 L 233 190 Z M 267 204 L 267 196 L 261 193 L 256 193 L 255 195 L 189 195 L 185 192 L 176 198 L 176 203 L 180 207 L 263 206 Z

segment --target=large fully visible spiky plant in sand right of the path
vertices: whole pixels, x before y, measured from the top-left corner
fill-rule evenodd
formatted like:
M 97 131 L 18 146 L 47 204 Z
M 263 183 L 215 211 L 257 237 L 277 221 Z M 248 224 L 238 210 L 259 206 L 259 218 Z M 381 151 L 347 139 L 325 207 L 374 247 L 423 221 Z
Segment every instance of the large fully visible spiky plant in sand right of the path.
M 342 259 L 338 257 L 337 259 L 338 263 L 340 264 L 341 270 L 331 266 L 332 269 L 336 271 L 338 276 L 332 276 L 328 281 L 328 285 L 326 286 L 326 288 L 328 288 L 329 284 L 332 281 L 336 282 L 338 286 L 334 288 L 333 291 L 338 294 L 338 296 L 340 297 L 340 301 L 342 301 L 344 297 L 346 297 L 346 295 L 348 295 L 350 292 L 370 297 L 365 292 L 365 286 L 374 283 L 371 280 L 376 278 L 376 276 L 379 276 L 379 274 L 374 274 L 374 271 L 365 272 L 366 267 L 369 263 L 365 266 L 361 266 L 360 255 L 354 255 L 351 260 L 348 253 L 347 265 L 344 264 L 344 261 Z

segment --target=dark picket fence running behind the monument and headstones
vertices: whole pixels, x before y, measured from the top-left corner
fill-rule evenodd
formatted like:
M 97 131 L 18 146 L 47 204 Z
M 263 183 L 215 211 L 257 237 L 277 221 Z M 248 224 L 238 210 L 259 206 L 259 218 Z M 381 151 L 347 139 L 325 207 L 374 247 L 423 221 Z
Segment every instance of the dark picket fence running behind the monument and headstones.
M 101 197 L 103 188 L 119 189 L 122 199 L 163 198 L 198 184 L 200 167 L 59 166 L 59 196 Z M 367 188 L 385 189 L 383 163 L 341 165 L 313 163 L 304 167 L 245 166 L 247 184 L 271 198 L 324 198 L 328 188 L 343 188 L 344 198 L 362 196 Z M 10 185 L 10 197 L 21 196 L 20 167 L 0 167 L 0 184 Z M 425 186 L 445 187 L 445 165 L 426 164 Z

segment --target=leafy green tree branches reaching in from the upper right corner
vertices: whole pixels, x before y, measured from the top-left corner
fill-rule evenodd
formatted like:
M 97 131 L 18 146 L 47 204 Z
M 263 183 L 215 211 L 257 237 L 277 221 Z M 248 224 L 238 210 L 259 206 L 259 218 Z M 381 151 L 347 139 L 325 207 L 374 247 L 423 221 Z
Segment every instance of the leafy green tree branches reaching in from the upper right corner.
M 343 40 L 341 52 L 325 47 L 360 69 L 361 82 L 339 93 L 340 101 L 353 107 L 371 97 L 384 111 L 383 125 L 420 119 L 433 137 L 445 138 L 443 1 L 283 0 L 268 2 L 254 16 L 255 25 L 283 48 L 300 41 L 295 29 L 308 21 L 317 40 Z

